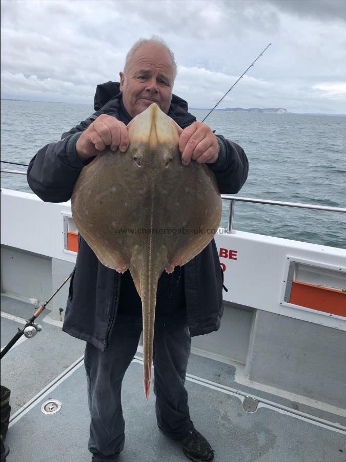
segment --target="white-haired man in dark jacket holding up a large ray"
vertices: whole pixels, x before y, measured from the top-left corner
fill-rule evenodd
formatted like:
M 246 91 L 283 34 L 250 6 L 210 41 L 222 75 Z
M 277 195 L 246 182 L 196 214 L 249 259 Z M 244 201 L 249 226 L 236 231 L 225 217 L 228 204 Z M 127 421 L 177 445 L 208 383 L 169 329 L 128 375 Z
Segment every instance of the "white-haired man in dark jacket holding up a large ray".
M 125 152 L 126 125 L 155 102 L 183 128 L 181 162 L 207 163 L 221 192 L 238 192 L 248 173 L 244 151 L 196 122 L 187 103 L 172 95 L 175 75 L 174 55 L 161 39 L 136 42 L 120 72 L 120 85 L 99 85 L 96 112 L 32 159 L 28 168 L 32 190 L 44 201 L 69 200 L 82 168 L 106 147 Z M 157 288 L 153 352 L 157 424 L 194 461 L 212 460 L 214 453 L 190 419 L 184 383 L 191 336 L 217 330 L 221 316 L 222 272 L 213 240 L 172 275 L 162 273 Z M 121 381 L 136 353 L 141 322 L 141 302 L 129 271 L 119 275 L 102 265 L 79 237 L 63 330 L 87 341 L 88 447 L 94 462 L 118 460 L 124 448 Z

